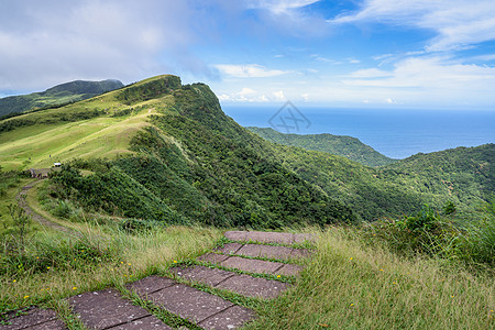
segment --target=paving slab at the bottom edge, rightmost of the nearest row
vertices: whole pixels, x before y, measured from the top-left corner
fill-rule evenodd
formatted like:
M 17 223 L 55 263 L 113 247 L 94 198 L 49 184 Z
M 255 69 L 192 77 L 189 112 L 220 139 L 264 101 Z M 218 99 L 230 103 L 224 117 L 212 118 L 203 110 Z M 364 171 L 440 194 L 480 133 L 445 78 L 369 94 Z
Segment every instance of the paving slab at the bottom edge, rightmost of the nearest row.
M 252 310 L 234 305 L 201 321 L 199 327 L 207 330 L 232 330 L 248 323 L 254 318 L 255 314 Z

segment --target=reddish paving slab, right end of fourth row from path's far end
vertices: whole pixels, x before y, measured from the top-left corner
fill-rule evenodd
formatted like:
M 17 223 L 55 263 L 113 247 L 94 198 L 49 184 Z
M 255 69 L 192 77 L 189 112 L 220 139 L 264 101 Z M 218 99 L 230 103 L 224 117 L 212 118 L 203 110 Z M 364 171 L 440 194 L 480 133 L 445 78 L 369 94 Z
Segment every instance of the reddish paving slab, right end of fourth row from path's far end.
M 218 288 L 228 289 L 246 297 L 258 297 L 264 299 L 275 298 L 288 287 L 288 284 L 270 280 L 266 278 L 251 277 L 248 275 L 232 276 L 219 285 Z

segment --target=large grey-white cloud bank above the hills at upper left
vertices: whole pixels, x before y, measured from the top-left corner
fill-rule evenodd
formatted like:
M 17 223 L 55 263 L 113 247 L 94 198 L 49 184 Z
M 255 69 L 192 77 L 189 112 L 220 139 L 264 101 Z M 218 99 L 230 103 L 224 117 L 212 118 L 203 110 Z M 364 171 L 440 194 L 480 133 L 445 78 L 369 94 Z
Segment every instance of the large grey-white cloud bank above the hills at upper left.
M 175 0 L 3 0 L 0 90 L 73 79 L 131 82 L 161 73 L 213 76 L 190 51 L 201 16 Z

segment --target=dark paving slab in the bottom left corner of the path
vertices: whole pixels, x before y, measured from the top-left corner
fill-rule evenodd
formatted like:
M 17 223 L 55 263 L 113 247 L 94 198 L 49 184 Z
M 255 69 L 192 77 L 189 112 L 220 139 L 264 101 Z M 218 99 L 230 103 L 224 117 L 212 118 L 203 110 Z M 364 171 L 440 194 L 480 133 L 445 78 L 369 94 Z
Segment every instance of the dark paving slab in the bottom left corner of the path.
M 1 324 L 2 330 L 20 330 L 20 329 L 66 329 L 64 322 L 57 320 L 57 315 L 53 309 L 31 308 L 23 315 L 14 317 L 12 312 L 7 322 L 10 324 Z M 46 328 L 47 326 L 52 328 Z

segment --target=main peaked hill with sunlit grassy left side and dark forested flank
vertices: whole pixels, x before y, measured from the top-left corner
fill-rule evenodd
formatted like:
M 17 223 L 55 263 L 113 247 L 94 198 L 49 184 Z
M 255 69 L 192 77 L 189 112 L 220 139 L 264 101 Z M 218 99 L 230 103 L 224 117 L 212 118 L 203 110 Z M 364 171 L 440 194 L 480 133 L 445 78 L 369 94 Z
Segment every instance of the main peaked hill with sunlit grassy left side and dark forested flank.
M 251 228 L 356 220 L 267 144 L 228 118 L 208 86 L 174 76 L 0 122 L 0 164 L 64 163 L 51 196 L 89 212 Z

